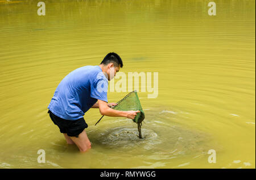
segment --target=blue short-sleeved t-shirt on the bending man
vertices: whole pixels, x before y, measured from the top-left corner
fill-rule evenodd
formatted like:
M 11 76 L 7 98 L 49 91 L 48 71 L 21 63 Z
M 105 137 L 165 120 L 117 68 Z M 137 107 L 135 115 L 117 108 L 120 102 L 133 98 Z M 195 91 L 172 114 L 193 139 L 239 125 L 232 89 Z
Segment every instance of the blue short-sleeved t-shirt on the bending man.
M 53 114 L 67 120 L 84 116 L 97 102 L 108 102 L 108 79 L 100 66 L 83 66 L 73 70 L 59 83 L 49 103 Z

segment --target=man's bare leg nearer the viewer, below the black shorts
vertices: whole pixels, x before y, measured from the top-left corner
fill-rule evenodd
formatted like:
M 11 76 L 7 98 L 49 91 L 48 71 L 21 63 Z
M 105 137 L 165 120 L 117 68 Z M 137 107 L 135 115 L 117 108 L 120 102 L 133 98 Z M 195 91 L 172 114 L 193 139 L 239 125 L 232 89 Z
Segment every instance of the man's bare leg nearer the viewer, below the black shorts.
M 79 137 L 70 136 L 71 140 L 77 145 L 80 152 L 86 152 L 90 149 L 90 140 L 88 139 L 85 130 L 79 134 Z

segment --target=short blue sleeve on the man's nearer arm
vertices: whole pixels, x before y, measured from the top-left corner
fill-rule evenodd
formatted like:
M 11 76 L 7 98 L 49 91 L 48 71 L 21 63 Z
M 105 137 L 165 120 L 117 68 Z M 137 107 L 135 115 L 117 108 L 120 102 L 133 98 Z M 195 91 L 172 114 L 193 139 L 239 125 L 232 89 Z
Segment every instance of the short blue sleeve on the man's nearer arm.
M 90 97 L 108 102 L 108 79 L 103 73 L 98 73 L 96 79 L 90 85 Z

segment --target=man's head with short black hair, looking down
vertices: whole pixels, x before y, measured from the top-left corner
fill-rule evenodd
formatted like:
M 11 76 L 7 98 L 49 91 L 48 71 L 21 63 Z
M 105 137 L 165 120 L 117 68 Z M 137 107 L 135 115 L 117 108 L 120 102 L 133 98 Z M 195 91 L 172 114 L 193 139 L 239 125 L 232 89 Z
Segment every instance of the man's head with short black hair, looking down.
M 110 52 L 104 57 L 100 67 L 102 72 L 108 75 L 108 80 L 110 81 L 113 77 L 115 77 L 115 74 L 119 72 L 119 69 L 123 67 L 123 61 L 121 57 L 117 55 L 117 53 Z

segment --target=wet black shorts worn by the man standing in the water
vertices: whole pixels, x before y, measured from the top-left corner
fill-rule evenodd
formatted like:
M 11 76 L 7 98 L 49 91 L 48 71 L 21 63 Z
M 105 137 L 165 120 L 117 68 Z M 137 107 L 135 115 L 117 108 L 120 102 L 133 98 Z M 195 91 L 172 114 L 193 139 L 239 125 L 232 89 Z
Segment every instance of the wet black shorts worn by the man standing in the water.
M 67 133 L 68 136 L 78 137 L 79 134 L 88 127 L 88 124 L 86 124 L 84 118 L 77 120 L 62 119 L 53 114 L 50 110 L 48 111 L 48 114 L 52 119 L 52 122 L 60 128 L 60 132 Z

